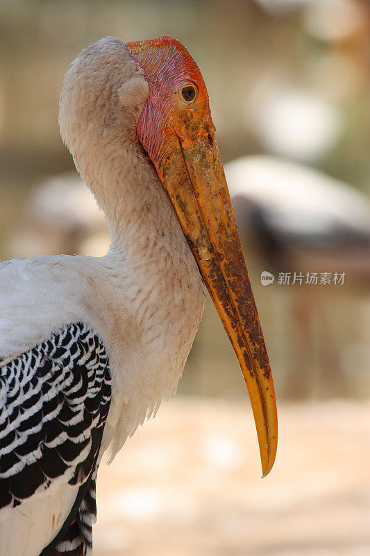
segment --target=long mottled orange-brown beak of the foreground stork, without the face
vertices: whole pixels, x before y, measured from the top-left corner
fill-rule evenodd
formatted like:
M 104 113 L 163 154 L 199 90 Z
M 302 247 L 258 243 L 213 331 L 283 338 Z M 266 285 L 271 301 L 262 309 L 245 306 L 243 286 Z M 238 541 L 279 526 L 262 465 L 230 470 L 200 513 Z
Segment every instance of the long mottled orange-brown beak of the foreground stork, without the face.
M 242 369 L 266 476 L 277 448 L 274 384 L 219 149 L 209 130 L 198 128 L 192 139 L 175 131 L 178 146 L 160 174 Z

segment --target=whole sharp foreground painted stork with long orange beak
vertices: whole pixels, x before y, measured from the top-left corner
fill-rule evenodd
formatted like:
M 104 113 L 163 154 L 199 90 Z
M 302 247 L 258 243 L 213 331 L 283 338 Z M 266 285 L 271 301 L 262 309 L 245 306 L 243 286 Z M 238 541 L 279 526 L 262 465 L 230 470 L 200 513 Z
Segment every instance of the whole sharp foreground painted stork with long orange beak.
M 0 265 L 0 555 L 92 550 L 95 479 L 176 389 L 205 304 L 249 391 L 263 475 L 274 386 L 201 72 L 169 37 L 79 54 L 60 132 L 106 215 L 101 258 Z

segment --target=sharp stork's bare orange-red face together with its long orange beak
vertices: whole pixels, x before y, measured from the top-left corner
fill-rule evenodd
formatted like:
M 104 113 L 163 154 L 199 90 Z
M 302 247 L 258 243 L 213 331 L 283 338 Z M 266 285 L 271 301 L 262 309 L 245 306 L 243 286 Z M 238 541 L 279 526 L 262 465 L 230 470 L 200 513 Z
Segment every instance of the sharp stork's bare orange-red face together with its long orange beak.
M 171 197 L 181 227 L 239 361 L 257 428 L 263 476 L 276 457 L 274 384 L 226 184 L 203 77 L 171 37 L 128 42 L 150 95 L 137 136 Z M 176 88 L 198 90 L 185 103 Z

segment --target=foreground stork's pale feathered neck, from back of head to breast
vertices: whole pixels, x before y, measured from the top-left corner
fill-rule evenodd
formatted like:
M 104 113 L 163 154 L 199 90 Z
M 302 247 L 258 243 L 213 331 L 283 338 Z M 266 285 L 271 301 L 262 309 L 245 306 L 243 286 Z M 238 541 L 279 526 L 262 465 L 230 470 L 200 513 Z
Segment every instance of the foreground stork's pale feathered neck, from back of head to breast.
M 108 38 L 76 58 L 60 96 L 62 138 L 112 238 L 106 256 L 81 263 L 87 322 L 110 356 L 104 443 L 113 441 L 112 452 L 176 389 L 205 303 L 194 256 L 137 139 L 148 95 L 124 43 Z

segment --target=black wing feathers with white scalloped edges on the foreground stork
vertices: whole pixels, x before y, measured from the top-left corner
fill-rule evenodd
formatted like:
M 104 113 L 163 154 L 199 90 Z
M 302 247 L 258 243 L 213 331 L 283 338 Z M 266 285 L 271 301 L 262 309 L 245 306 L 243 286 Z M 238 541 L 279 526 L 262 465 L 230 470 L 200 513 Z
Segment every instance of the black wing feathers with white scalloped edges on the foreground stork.
M 83 323 L 0 361 L 0 521 L 60 482 L 92 480 L 110 395 L 106 351 Z

